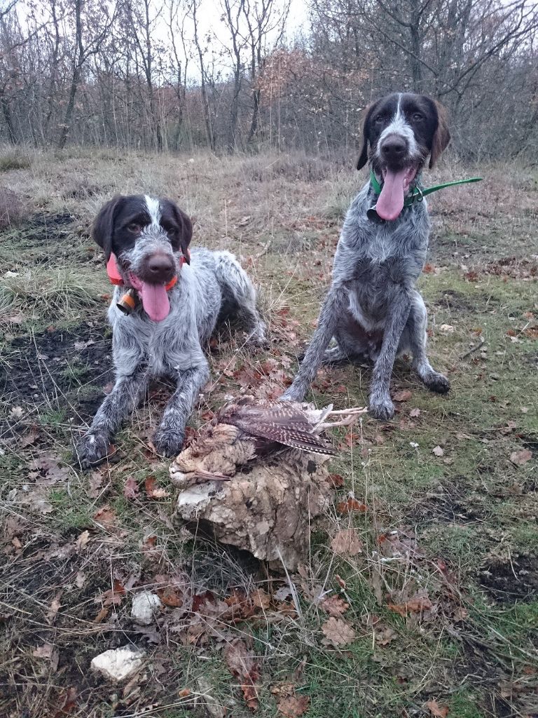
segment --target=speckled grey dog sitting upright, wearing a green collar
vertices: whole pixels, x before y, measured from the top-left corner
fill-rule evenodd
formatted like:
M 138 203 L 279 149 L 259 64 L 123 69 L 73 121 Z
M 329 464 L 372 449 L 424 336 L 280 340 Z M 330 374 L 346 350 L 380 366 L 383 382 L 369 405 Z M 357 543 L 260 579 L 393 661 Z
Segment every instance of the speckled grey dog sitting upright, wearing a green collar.
M 449 141 L 443 107 L 424 95 L 396 93 L 367 109 L 357 169 L 369 162 L 374 177 L 348 210 L 329 294 L 283 399 L 301 401 L 321 363 L 373 360 L 369 411 L 389 419 L 392 367 L 406 352 L 428 388 L 449 390 L 426 356 L 426 307 L 415 286 L 428 250 L 428 209 L 410 201 L 426 158 L 433 167 Z M 336 346 L 327 349 L 333 337 Z

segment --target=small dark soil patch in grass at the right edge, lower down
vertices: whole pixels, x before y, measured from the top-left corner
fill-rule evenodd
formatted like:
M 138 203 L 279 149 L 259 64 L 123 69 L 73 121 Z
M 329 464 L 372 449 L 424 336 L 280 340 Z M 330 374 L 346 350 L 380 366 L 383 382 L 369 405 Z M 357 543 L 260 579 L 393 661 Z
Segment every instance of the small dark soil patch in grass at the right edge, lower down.
M 480 584 L 500 602 L 532 601 L 538 596 L 538 556 L 512 555 L 489 559 L 480 571 Z

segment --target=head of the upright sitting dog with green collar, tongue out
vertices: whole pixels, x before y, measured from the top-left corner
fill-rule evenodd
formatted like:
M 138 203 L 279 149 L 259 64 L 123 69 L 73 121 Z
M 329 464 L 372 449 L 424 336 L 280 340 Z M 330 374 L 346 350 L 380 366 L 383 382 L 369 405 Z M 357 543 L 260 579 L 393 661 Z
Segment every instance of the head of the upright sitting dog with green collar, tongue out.
M 357 169 L 372 164 L 384 183 L 377 212 L 393 220 L 428 155 L 431 168 L 450 141 L 445 110 L 425 95 L 395 93 L 369 106 L 363 134 Z

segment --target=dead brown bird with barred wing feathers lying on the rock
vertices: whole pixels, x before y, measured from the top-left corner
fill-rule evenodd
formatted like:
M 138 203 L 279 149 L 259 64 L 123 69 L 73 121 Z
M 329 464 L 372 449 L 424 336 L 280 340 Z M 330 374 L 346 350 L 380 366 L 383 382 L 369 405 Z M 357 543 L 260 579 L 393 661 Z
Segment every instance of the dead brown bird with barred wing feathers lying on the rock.
M 182 485 L 195 478 L 225 480 L 237 467 L 285 447 L 334 456 L 324 430 L 347 426 L 366 411 L 333 411 L 332 404 L 316 409 L 312 404 L 245 396 L 222 407 L 211 424 L 202 427 L 171 465 L 171 478 Z

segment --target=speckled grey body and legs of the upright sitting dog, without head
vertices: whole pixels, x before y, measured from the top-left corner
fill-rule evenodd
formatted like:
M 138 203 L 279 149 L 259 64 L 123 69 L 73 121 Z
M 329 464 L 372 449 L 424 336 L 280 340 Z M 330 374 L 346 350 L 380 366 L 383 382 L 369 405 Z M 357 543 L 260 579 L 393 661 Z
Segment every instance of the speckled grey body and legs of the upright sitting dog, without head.
M 428 251 L 426 202 L 404 208 L 393 222 L 377 224 L 367 218 L 375 201 L 368 182 L 351 202 L 318 326 L 283 399 L 301 401 L 322 362 L 367 358 L 374 361 L 369 411 L 378 419 L 390 418 L 392 366 L 404 352 L 412 353 L 413 368 L 428 388 L 444 393 L 450 387 L 428 362 L 426 308 L 415 286 Z M 336 347 L 327 350 L 333 337 Z

